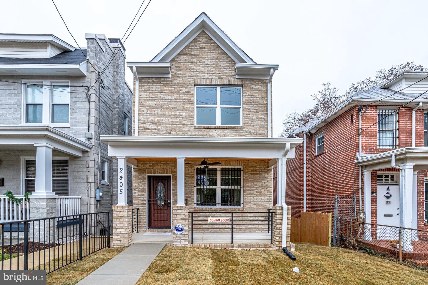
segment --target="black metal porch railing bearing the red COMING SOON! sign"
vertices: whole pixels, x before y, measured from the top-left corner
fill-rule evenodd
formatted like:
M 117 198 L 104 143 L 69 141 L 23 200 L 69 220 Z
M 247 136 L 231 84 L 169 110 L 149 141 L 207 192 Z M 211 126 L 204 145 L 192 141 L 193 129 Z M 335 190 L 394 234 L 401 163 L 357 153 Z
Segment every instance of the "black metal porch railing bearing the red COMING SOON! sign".
M 190 212 L 192 244 L 273 243 L 274 212 Z

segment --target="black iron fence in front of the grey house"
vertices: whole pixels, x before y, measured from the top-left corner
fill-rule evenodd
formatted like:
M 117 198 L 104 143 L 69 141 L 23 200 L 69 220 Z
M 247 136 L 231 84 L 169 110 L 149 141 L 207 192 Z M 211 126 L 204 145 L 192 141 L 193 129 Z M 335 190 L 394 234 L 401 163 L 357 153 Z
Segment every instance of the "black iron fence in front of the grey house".
M 110 247 L 110 213 L 0 223 L 1 269 L 51 273 Z

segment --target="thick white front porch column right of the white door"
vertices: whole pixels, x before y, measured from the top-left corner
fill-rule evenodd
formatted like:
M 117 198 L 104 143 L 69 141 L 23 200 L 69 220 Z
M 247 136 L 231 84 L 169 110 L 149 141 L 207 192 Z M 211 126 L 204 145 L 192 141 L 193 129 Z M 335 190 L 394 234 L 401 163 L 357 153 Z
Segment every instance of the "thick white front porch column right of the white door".
M 400 179 L 400 226 L 412 227 L 412 194 L 413 194 L 413 165 L 414 163 L 403 163 L 401 167 Z M 412 232 L 403 229 L 401 232 L 402 250 L 413 250 Z

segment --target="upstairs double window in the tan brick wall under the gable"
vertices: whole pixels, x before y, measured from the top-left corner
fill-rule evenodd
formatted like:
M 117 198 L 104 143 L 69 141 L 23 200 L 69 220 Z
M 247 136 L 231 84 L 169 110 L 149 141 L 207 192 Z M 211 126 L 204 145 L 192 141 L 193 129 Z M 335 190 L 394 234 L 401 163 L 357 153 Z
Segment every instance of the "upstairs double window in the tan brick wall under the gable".
M 241 126 L 242 88 L 231 86 L 196 86 L 195 124 Z

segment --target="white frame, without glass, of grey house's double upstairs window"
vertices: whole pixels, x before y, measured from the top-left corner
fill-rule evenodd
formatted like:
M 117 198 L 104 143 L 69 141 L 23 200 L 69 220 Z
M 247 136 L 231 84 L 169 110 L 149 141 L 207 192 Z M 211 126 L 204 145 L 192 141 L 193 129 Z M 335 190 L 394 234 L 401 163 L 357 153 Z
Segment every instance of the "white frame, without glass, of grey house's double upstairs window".
M 24 126 L 53 126 L 53 127 L 70 127 L 70 80 L 56 79 L 22 79 L 21 90 L 21 125 Z M 43 85 L 43 102 L 42 102 L 42 122 L 27 123 L 26 122 L 26 102 L 27 102 L 27 84 Z M 51 85 L 68 85 L 68 123 L 52 123 L 52 86 Z

